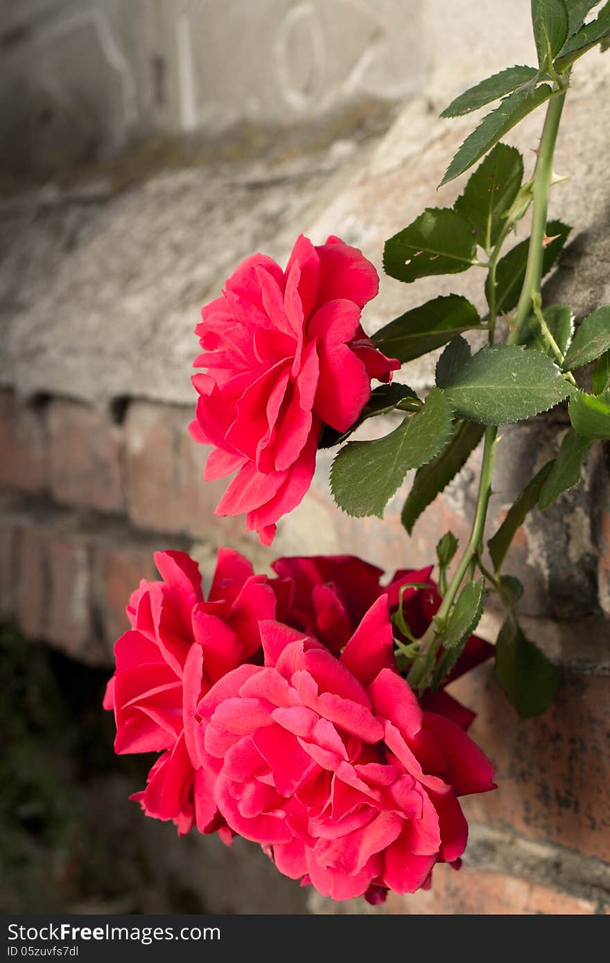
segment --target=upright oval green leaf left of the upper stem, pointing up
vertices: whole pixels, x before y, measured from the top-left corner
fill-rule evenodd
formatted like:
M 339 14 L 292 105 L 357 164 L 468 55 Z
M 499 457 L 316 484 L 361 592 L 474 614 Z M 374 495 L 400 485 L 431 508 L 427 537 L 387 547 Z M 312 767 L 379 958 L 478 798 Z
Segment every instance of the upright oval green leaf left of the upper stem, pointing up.
M 477 244 L 487 251 L 498 239 L 522 178 L 523 159 L 517 148 L 496 143 L 454 204 L 474 227 Z

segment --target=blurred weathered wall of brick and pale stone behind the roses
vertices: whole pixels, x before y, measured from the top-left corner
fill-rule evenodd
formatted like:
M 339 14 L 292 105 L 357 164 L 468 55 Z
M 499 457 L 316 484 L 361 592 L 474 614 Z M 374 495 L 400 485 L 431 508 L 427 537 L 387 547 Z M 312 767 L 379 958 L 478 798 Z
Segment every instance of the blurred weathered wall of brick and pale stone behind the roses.
M 465 86 L 531 63 L 527 0 L 0 0 L 0 622 L 11 752 L 0 897 L 12 909 L 364 912 L 308 898 L 252 846 L 145 820 L 98 708 L 129 592 L 178 547 L 205 579 L 219 544 L 355 552 L 393 569 L 469 525 L 477 455 L 412 538 L 333 508 L 321 456 L 273 551 L 213 515 L 189 438 L 200 305 L 253 250 L 283 261 L 301 231 L 337 233 L 381 267 L 477 117 L 438 121 Z M 610 54 L 578 65 L 551 214 L 576 229 L 547 294 L 583 316 L 610 301 Z M 511 143 L 532 168 L 542 117 Z M 520 236 L 525 236 L 523 224 Z M 369 330 L 480 278 L 384 278 Z M 411 365 L 415 388 L 429 362 Z M 554 412 L 503 434 L 494 517 L 567 427 Z M 606 453 L 607 454 L 607 453 Z M 597 451 L 584 485 L 520 531 L 508 570 L 528 632 L 567 669 L 557 705 L 519 722 L 483 668 L 460 683 L 501 790 L 469 803 L 458 875 L 395 913 L 604 912 L 610 892 L 610 499 Z M 402 492 L 404 495 L 404 490 Z M 486 615 L 492 635 L 498 614 Z M 6 694 L 5 694 L 6 693 Z M 87 841 L 87 845 L 84 845 Z M 94 843 L 94 846 L 93 846 Z M 446 870 L 446 872 L 445 872 Z M 36 905 L 34 905 L 36 904 Z

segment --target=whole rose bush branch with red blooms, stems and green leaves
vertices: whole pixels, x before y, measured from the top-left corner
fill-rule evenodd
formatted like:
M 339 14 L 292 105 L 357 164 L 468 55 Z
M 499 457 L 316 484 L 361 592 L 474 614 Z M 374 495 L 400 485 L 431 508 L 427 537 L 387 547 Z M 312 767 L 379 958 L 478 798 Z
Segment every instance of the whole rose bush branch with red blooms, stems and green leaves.
M 416 306 L 410 295 L 373 343 L 360 313 L 377 295 L 375 269 L 336 237 L 314 247 L 302 236 L 285 271 L 261 254 L 247 258 L 196 329 L 195 366 L 205 373 L 193 379 L 191 430 L 212 448 L 206 478 L 234 475 L 216 511 L 245 513 L 263 544 L 304 497 L 318 444 L 341 446 L 331 491 L 354 518 L 383 517 L 414 470 L 400 512 L 411 534 L 483 441 L 470 534 L 459 555 L 454 534 L 438 542 L 442 598 L 430 567 L 384 586 L 379 569 L 350 557 L 293 558 L 266 579 L 236 553 L 219 560 L 207 600 L 197 566 L 179 553 L 162 555 L 163 581 L 132 597 L 106 705 L 117 751 L 162 753 L 136 794 L 146 813 L 179 832 L 197 824 L 257 841 L 280 872 L 333 898 L 378 902 L 388 889 L 427 886 L 438 862 L 459 864 L 459 798 L 494 787 L 491 763 L 466 735 L 473 714 L 445 687 L 491 655 L 471 635 L 488 592 L 505 609 L 495 676 L 518 715 L 542 715 L 561 684 L 561 666 L 519 626 L 523 586 L 502 568 L 526 513 L 569 491 L 587 453 L 610 437 L 610 306 L 574 330 L 570 305 L 546 303 L 542 287 L 570 233 L 547 215 L 562 179 L 553 156 L 571 70 L 610 36 L 597 4 L 572 6 L 532 2 L 538 65 L 496 71 L 445 108 L 442 116 L 462 117 L 489 103 L 491 113 L 441 185 L 481 163 L 452 206 L 428 207 L 385 242 L 385 273 L 405 284 L 484 269 L 482 316 L 483 297 L 472 303 L 443 286 Z M 498 139 L 544 102 L 523 182 L 523 158 Z M 529 239 L 506 252 L 530 205 Z M 474 353 L 468 331 L 477 332 Z M 424 398 L 398 385 L 364 410 L 371 380 L 388 382 L 399 367 L 382 351 L 410 363 L 443 346 Z M 524 477 L 489 537 L 498 429 L 566 400 L 571 428 L 556 457 Z M 399 421 L 388 433 L 343 444 L 360 416 L 392 411 Z

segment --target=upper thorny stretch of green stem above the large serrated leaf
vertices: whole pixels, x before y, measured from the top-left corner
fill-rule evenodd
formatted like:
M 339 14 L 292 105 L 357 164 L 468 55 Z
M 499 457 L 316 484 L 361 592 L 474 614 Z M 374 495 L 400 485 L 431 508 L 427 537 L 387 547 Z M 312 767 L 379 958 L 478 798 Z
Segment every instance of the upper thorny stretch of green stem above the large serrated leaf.
M 566 91 L 558 91 L 551 97 L 544 117 L 543 136 L 538 148 L 538 160 L 534 171 L 532 236 L 527 253 L 527 266 L 523 287 L 517 303 L 517 312 L 513 330 L 507 338 L 507 344 L 516 345 L 521 336 L 523 325 L 527 321 L 532 309 L 532 297 L 541 289 L 543 279 L 544 232 L 546 230 L 546 214 L 548 211 L 548 191 L 553 176 L 553 154 L 559 122 L 564 109 Z

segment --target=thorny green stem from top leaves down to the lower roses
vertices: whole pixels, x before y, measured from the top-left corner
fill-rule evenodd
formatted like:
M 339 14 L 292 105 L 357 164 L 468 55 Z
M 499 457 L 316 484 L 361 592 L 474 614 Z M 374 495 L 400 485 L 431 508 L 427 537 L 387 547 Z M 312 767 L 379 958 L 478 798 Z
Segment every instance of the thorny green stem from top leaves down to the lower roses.
M 557 132 L 561 120 L 562 110 L 566 99 L 566 91 L 556 91 L 551 97 L 546 109 L 544 118 L 543 135 L 538 150 L 538 160 L 534 171 L 532 182 L 533 212 L 532 212 L 532 234 L 527 253 L 527 265 L 523 286 L 517 303 L 517 312 L 512 325 L 512 329 L 506 339 L 509 345 L 518 344 L 521 337 L 523 325 L 525 324 L 535 303 L 539 303 L 541 284 L 543 277 L 543 254 L 544 238 L 546 229 L 546 215 L 548 210 L 548 191 L 551 186 L 553 176 L 553 153 Z M 506 224 L 498 238 L 498 243 L 493 250 L 490 259 L 490 343 L 493 342 L 495 333 L 495 266 L 499 248 L 506 238 L 510 229 L 510 224 Z M 541 312 L 542 316 L 542 312 Z M 543 319 L 544 321 L 544 319 Z M 547 328 L 547 325 L 546 329 Z M 550 332 L 548 332 L 550 334 Z M 550 344 L 550 342 L 549 342 Z M 556 345 L 559 351 L 558 346 Z M 560 351 L 561 353 L 561 351 Z M 562 356 L 563 360 L 563 356 Z M 430 626 L 419 639 L 419 651 L 409 673 L 411 687 L 423 691 L 429 683 L 430 674 L 435 664 L 435 657 L 438 647 L 442 641 L 442 629 L 447 617 L 451 612 L 455 598 L 462 586 L 464 575 L 468 567 L 476 563 L 481 554 L 483 545 L 483 535 L 485 532 L 485 522 L 491 497 L 491 479 L 493 475 L 493 461 L 497 441 L 497 429 L 489 426 L 485 429 L 485 448 L 483 451 L 483 463 L 481 465 L 481 478 L 479 481 L 479 492 L 477 504 L 472 521 L 472 529 L 468 543 L 464 549 L 464 554 L 460 559 L 454 576 L 447 587 L 443 596 L 437 615 Z

